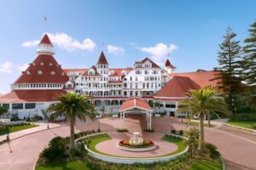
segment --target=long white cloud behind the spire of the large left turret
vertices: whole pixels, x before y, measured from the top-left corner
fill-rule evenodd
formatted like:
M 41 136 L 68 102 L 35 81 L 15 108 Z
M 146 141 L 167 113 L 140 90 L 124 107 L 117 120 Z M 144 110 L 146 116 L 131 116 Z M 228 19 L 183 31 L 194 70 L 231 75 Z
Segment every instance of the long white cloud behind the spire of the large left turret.
M 59 48 L 66 49 L 67 51 L 74 51 L 74 50 L 92 51 L 94 48 L 96 48 L 96 43 L 93 42 L 90 38 L 85 38 L 83 42 L 79 42 L 78 40 L 73 39 L 73 37 L 70 37 L 69 35 L 63 32 L 57 32 L 54 34 L 47 33 L 47 34 L 52 43 L 54 43 Z M 33 46 L 37 46 L 39 42 L 40 42 L 39 40 L 35 40 L 35 41 L 23 42 L 21 45 L 24 47 L 33 47 Z

